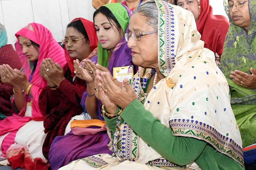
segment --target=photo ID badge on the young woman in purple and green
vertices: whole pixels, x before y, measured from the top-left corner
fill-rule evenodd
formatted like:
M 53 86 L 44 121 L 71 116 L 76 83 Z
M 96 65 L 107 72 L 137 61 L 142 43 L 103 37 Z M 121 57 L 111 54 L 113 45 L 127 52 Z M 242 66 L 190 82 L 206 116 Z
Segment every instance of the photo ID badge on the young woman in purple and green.
M 124 67 L 114 67 L 113 68 L 113 77 L 116 78 L 119 82 L 123 82 L 123 79 L 127 78 L 128 80 L 133 77 L 133 66 L 124 66 Z

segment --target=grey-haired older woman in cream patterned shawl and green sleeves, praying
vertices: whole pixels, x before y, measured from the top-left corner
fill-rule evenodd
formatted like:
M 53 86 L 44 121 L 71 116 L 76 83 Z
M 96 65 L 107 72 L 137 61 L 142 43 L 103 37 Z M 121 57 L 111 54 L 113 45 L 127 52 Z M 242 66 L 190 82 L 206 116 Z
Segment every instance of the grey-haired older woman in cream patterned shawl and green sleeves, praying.
M 125 38 L 139 71 L 123 88 L 96 71 L 114 154 L 61 169 L 244 169 L 228 83 L 192 18 L 161 0 L 135 9 Z

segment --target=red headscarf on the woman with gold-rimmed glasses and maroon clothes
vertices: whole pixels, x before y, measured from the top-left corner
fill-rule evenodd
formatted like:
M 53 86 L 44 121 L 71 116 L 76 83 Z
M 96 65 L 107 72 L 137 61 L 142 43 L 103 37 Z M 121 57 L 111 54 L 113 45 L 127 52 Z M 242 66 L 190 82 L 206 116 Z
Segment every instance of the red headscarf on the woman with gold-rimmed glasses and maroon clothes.
M 73 21 L 71 21 L 71 23 L 74 22 L 74 21 L 78 21 L 78 20 L 82 21 L 82 23 L 84 25 L 84 29 L 86 30 L 86 33 L 87 33 L 89 41 L 90 41 L 91 51 L 92 51 L 93 54 L 95 54 L 94 50 L 97 50 L 98 37 L 96 35 L 96 29 L 94 27 L 94 23 L 89 21 L 89 20 L 86 20 L 84 18 L 75 18 Z M 69 65 L 69 69 L 71 70 L 71 76 L 74 77 L 75 73 L 74 73 L 74 63 L 73 63 L 73 61 L 75 59 L 73 59 L 69 56 L 69 53 L 66 50 L 66 46 L 65 46 L 65 57 L 66 57 L 68 65 Z

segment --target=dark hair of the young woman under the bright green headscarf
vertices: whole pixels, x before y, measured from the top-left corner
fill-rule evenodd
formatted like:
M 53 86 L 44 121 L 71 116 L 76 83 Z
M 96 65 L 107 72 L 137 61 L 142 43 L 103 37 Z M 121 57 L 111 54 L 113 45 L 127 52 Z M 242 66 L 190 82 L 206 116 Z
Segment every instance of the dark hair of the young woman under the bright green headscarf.
M 111 10 L 105 6 L 101 6 L 99 9 L 97 9 L 94 13 L 93 13 L 93 22 L 94 22 L 94 18 L 97 14 L 103 14 L 107 17 L 109 23 L 111 24 L 112 28 L 113 28 L 113 23 L 110 21 L 112 20 L 113 22 L 115 22 L 115 24 L 117 25 L 116 29 L 119 31 L 119 33 L 122 32 L 122 27 L 119 24 L 119 22 L 117 21 L 117 19 L 115 18 L 114 14 L 111 12 Z M 95 22 L 94 22 L 95 23 Z

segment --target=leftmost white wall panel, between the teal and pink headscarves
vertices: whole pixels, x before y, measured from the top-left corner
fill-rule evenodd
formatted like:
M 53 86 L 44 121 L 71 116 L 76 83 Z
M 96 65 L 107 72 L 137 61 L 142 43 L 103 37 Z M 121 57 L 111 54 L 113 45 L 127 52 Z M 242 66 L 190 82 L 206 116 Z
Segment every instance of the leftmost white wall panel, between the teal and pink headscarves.
M 3 18 L 7 30 L 8 43 L 15 44 L 15 33 L 22 27 L 34 22 L 33 10 L 30 0 L 1 1 Z

